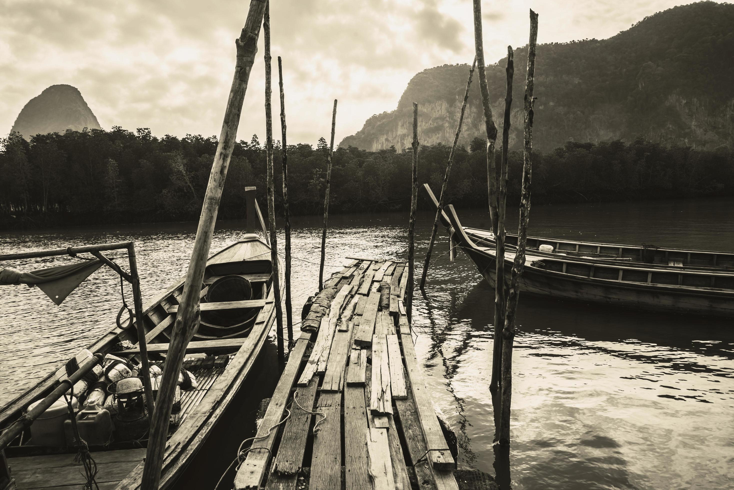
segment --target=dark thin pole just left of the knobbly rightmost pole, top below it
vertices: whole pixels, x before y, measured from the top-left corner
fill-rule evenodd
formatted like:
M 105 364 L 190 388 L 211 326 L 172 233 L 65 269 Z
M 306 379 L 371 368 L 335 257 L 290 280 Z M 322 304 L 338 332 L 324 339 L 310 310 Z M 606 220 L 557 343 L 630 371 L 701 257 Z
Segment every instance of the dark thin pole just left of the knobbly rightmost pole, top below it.
M 505 92 L 504 121 L 502 122 L 502 157 L 500 161 L 499 193 L 497 196 L 497 233 L 495 235 L 495 341 L 492 356 L 492 381 L 490 390 L 496 391 L 501 384 L 502 370 L 502 328 L 504 327 L 505 274 L 504 274 L 504 242 L 505 242 L 505 205 L 507 199 L 507 152 L 509 147 L 509 113 L 512 108 L 512 76 L 515 73 L 515 62 L 512 59 L 512 46 L 507 46 L 507 89 Z

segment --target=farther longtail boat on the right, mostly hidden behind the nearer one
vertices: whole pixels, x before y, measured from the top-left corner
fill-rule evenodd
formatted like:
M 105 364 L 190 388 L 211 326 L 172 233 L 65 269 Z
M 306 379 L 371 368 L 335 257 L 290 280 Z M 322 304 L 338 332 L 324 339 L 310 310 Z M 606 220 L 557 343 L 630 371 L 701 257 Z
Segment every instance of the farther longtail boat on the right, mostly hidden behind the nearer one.
M 433 191 L 424 184 L 426 201 L 433 210 L 438 209 L 438 200 Z M 448 226 L 448 217 L 441 213 L 441 222 Z M 492 230 L 463 227 L 472 241 L 480 246 L 495 246 L 495 234 Z M 453 233 L 453 232 L 450 232 Z M 509 252 L 517 248 L 517 235 L 507 233 L 505 246 Z M 625 263 L 625 265 L 644 267 L 683 267 L 701 270 L 734 269 L 734 253 L 713 250 L 689 250 L 664 248 L 650 244 L 622 245 L 606 244 L 593 241 L 575 241 L 559 238 L 528 236 L 527 250 L 540 257 L 573 257 L 581 262 Z

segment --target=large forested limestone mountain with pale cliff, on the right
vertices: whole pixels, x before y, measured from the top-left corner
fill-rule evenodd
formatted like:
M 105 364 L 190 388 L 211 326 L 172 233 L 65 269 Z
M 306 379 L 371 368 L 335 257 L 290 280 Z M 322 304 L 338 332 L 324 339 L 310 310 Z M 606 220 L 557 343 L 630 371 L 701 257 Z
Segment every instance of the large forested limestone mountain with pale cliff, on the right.
M 606 40 L 550 43 L 537 48 L 534 147 L 551 150 L 567 141 L 633 141 L 713 149 L 734 147 L 734 4 L 702 1 L 644 18 Z M 523 135 L 527 46 L 515 50 L 511 149 Z M 504 112 L 506 58 L 487 67 L 498 126 Z M 451 145 L 468 65 L 443 65 L 418 73 L 398 106 L 369 118 L 342 147 L 381 150 L 410 147 L 412 103 L 418 103 L 423 145 Z M 459 142 L 484 137 L 479 82 L 472 82 Z

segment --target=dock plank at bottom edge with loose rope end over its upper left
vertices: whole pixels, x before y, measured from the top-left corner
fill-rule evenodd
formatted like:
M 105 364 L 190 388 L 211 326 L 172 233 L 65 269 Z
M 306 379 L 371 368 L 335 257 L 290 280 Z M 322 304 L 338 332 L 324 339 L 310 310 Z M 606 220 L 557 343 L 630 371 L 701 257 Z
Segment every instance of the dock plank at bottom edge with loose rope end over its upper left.
M 341 393 L 321 392 L 317 406 L 326 418 L 313 436 L 309 488 L 341 490 Z

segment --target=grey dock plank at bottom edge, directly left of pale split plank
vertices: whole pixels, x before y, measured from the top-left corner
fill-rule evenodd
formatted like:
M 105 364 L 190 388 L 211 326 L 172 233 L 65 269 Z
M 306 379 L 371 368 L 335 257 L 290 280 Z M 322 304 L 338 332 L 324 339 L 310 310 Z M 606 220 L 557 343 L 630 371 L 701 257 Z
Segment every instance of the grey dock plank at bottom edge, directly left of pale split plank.
M 344 479 L 350 490 L 372 490 L 368 475 L 367 409 L 362 387 L 344 388 Z

